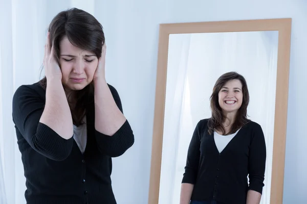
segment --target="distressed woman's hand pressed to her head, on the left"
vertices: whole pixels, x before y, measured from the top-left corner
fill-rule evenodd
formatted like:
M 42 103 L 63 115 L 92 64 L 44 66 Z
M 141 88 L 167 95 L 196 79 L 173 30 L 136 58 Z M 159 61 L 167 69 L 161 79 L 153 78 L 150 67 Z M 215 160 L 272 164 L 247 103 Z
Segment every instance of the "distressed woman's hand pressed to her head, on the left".
M 47 40 L 45 44 L 45 55 L 43 58 L 43 66 L 45 67 L 45 75 L 48 81 L 62 80 L 61 69 L 54 58 L 54 47 L 50 44 L 50 34 L 47 34 Z

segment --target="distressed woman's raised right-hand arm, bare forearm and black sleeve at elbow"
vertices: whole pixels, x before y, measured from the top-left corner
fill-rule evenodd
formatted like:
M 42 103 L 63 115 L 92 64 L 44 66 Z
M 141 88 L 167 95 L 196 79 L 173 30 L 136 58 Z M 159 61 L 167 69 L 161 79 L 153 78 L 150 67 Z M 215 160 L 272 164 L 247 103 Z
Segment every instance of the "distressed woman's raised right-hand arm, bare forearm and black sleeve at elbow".
M 105 80 L 94 81 L 95 129 L 98 148 L 110 157 L 119 157 L 134 144 L 134 134 L 123 115 L 116 89 Z

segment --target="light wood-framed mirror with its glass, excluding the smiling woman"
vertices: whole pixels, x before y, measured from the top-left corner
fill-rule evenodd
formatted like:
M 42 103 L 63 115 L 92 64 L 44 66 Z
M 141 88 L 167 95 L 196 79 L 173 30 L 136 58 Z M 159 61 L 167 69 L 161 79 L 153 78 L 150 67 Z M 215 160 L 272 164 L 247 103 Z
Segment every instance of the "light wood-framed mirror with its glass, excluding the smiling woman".
M 195 126 L 211 117 L 213 86 L 229 71 L 246 79 L 248 119 L 265 136 L 260 203 L 282 203 L 290 33 L 291 19 L 161 25 L 148 203 L 180 203 Z

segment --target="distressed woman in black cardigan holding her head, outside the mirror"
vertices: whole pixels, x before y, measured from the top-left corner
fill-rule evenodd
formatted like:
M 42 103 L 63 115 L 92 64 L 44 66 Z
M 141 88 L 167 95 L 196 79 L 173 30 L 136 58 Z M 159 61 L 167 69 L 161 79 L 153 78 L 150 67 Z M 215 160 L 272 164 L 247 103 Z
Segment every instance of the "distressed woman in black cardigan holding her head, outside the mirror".
M 57 14 L 48 31 L 46 77 L 13 97 L 27 203 L 115 204 L 111 158 L 131 147 L 134 135 L 105 81 L 102 27 L 74 8 Z

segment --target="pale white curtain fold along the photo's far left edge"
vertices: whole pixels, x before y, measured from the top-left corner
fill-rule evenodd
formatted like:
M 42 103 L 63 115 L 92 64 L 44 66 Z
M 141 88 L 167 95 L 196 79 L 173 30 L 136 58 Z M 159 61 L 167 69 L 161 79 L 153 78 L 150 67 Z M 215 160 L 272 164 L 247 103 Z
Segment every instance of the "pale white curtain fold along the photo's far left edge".
M 12 4 L 2 1 L 0 7 L 0 72 L 1 72 L 1 163 L 4 179 L 3 199 L 7 203 L 15 203 L 15 137 L 12 124 L 12 96 L 13 96 L 13 33 L 12 33 Z M 1 195 L 2 196 L 2 195 Z

